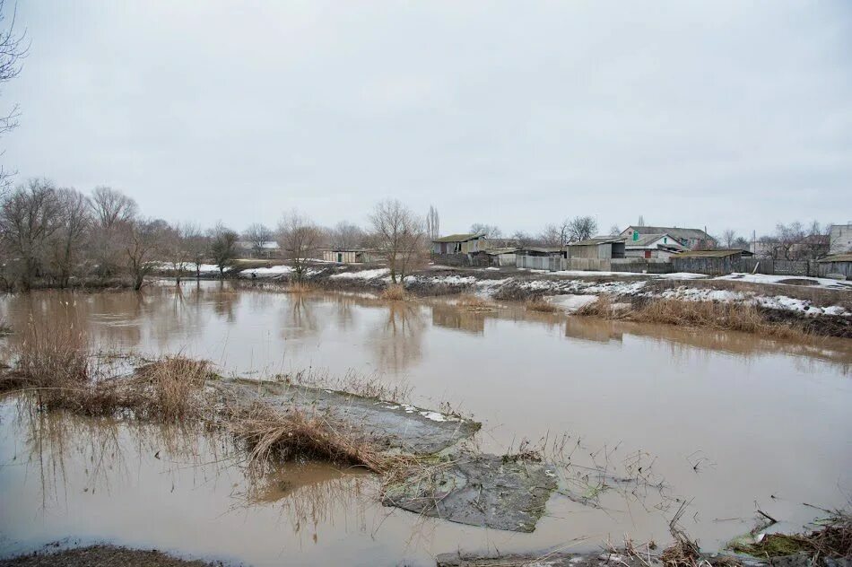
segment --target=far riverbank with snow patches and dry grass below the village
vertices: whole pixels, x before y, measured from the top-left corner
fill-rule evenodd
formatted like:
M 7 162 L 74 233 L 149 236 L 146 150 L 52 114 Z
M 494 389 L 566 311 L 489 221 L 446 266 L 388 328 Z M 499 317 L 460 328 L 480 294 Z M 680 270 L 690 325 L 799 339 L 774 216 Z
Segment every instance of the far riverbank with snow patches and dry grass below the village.
M 289 266 L 251 268 L 241 281 L 287 285 Z M 371 292 L 391 285 L 381 266 L 312 266 L 304 289 Z M 786 338 L 852 338 L 852 283 L 825 278 L 765 275 L 636 275 L 595 272 L 546 273 L 515 268 L 430 266 L 408 275 L 404 290 L 415 296 L 469 294 L 491 301 L 549 301 L 556 310 L 691 327 L 711 327 Z M 589 304 L 600 299 L 599 309 Z M 604 309 L 618 306 L 617 309 Z M 697 306 L 733 306 L 740 312 Z M 653 309 L 652 309 L 652 306 Z M 581 308 L 586 308 L 581 310 Z M 741 309 L 742 308 L 742 309 Z M 661 314 L 665 311 L 665 315 Z M 728 316 L 722 316 L 725 312 Z

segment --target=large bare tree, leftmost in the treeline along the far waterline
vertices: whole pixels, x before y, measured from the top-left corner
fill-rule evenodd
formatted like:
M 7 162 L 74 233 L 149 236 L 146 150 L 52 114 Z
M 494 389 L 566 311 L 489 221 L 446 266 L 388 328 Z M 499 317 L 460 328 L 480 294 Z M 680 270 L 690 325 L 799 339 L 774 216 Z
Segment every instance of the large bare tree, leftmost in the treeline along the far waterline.
M 57 189 L 46 179 L 30 179 L 15 188 L 0 208 L 0 235 L 7 253 L 20 264 L 18 278 L 29 291 L 59 228 Z

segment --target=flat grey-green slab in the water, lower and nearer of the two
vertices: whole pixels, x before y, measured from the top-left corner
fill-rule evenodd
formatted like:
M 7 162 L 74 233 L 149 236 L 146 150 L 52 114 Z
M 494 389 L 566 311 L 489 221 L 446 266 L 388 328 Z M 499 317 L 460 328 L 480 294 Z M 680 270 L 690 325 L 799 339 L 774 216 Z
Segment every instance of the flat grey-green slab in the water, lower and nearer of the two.
M 556 488 L 543 463 L 497 455 L 462 455 L 429 479 L 387 492 L 384 504 L 441 519 L 531 532 Z

